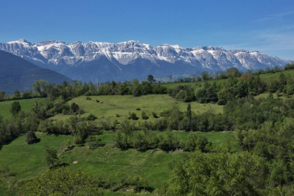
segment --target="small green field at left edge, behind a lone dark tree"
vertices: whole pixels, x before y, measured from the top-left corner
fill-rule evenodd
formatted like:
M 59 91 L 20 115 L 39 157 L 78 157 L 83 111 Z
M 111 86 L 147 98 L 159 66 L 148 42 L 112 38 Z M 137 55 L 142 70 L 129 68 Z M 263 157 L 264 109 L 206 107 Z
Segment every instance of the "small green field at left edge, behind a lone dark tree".
M 34 102 L 40 102 L 40 100 L 41 98 L 0 102 L 0 115 L 3 117 L 3 119 L 11 119 L 12 115 L 10 113 L 10 108 L 13 102 L 19 102 L 19 104 L 21 104 L 21 111 L 28 111 L 32 109 Z

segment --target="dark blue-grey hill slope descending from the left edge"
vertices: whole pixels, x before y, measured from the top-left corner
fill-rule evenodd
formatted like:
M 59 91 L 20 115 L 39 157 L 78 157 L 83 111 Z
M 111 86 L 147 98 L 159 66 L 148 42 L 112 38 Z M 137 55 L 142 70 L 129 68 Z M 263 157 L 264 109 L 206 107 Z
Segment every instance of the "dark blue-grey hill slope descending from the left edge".
M 0 50 L 0 91 L 12 93 L 32 88 L 35 80 L 47 80 L 60 84 L 63 81 L 72 82 L 69 77 L 53 70 L 48 70 L 24 60 L 11 53 Z

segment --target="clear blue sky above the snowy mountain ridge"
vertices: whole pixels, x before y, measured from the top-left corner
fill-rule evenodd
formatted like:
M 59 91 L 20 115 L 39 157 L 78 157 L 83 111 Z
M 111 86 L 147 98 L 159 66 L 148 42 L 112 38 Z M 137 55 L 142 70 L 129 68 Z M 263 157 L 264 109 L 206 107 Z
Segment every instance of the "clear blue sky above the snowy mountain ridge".
M 118 43 L 243 48 L 294 60 L 294 1 L 0 0 L 0 42 Z

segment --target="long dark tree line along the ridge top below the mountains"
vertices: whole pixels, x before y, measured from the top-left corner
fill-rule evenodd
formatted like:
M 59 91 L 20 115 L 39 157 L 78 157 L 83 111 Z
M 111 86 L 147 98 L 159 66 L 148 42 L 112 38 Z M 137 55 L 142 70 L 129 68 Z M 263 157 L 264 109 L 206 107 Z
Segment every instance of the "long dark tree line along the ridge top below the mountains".
M 285 65 L 284 70 L 292 70 L 294 65 L 293 63 L 289 63 Z M 227 78 L 235 78 L 241 77 L 246 78 L 249 80 L 252 75 L 260 75 L 263 73 L 274 73 L 274 72 L 281 72 L 281 67 L 273 67 L 273 69 L 267 68 L 266 70 L 256 70 L 256 72 L 252 72 L 248 70 L 245 74 L 241 74 L 239 70 L 236 68 L 229 68 L 226 72 L 218 73 L 216 72 L 214 77 L 209 75 L 208 72 L 202 72 L 201 77 L 191 77 L 191 78 L 184 78 L 179 80 L 178 82 L 187 82 L 187 81 L 207 81 L 207 80 L 219 80 L 219 79 L 227 79 Z M 134 96 L 138 97 L 144 94 L 165 94 L 167 93 L 167 88 L 163 87 L 160 84 L 153 85 L 153 82 L 156 80 L 153 79 L 152 75 L 148 75 L 147 81 L 142 81 L 141 83 L 134 79 L 133 81 L 126 81 L 126 82 L 104 82 L 101 84 L 94 85 L 92 82 L 84 82 L 82 83 L 79 80 L 74 80 L 72 84 L 68 82 L 62 82 L 60 85 L 55 85 L 54 83 L 47 82 L 45 80 L 36 80 L 33 82 L 33 91 L 25 91 L 19 92 L 16 90 L 13 94 L 6 94 L 5 92 L 0 92 L 0 101 L 1 100 L 13 100 L 13 99 L 30 99 L 33 97 L 56 97 L 62 96 L 63 99 L 70 99 L 72 97 L 78 97 L 80 95 L 114 95 L 114 94 L 134 94 Z M 225 82 L 226 83 L 226 82 Z M 271 87 L 266 87 L 268 91 L 275 91 L 277 90 L 278 84 L 275 81 L 271 81 Z M 175 92 L 169 92 L 169 94 L 173 94 L 173 97 L 178 97 L 179 99 L 183 99 L 185 102 L 192 102 L 195 101 L 195 98 L 192 97 L 192 92 L 194 89 L 187 89 L 187 94 L 185 94 L 185 89 L 187 87 L 178 87 L 175 91 L 180 92 L 183 90 L 184 92 L 180 92 L 180 94 Z M 217 89 L 219 92 L 220 89 Z M 255 89 L 256 91 L 256 89 Z M 191 93 L 190 93 L 191 92 Z M 249 89 L 249 93 L 256 93 L 254 89 L 251 91 Z M 177 96 L 176 96 L 177 95 Z M 188 98 L 187 98 L 188 97 Z M 205 99 L 206 101 L 206 99 Z M 204 102 L 205 102 L 204 101 Z M 207 100 L 209 102 L 209 100 Z

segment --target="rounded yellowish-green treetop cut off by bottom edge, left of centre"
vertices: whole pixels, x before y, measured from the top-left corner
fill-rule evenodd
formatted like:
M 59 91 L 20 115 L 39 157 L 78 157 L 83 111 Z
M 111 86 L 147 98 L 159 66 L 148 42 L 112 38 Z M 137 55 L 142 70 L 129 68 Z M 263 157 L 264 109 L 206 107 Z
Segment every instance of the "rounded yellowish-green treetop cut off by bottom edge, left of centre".
M 27 183 L 26 189 L 31 195 L 104 195 L 87 170 L 75 166 L 45 170 Z

